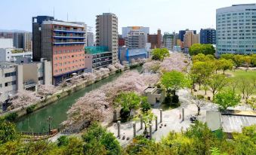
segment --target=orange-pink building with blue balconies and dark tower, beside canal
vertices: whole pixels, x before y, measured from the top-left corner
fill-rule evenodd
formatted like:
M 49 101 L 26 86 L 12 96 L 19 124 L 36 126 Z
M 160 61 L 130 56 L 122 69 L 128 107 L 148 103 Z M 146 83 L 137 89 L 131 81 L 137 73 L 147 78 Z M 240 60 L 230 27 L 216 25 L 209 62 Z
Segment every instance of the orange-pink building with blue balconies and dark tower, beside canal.
M 52 62 L 54 85 L 84 71 L 86 29 L 85 23 L 32 17 L 33 60 L 46 58 Z

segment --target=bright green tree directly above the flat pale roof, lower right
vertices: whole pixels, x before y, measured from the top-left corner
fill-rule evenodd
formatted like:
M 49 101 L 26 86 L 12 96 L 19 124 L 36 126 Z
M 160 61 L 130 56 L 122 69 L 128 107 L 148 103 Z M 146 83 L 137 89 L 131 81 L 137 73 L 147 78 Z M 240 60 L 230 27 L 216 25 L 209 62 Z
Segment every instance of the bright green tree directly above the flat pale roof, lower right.
M 225 90 L 214 96 L 214 103 L 216 103 L 222 111 L 227 110 L 228 107 L 238 105 L 240 100 L 241 97 L 233 93 L 233 90 Z

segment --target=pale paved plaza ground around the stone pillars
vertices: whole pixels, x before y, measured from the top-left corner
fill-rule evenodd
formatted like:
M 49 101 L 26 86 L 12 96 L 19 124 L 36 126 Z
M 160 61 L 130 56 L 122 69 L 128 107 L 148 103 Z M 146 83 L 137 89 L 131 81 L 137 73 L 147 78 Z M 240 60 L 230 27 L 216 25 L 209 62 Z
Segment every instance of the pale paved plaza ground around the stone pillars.
M 175 108 L 168 111 L 162 112 L 162 123 L 159 123 L 158 126 L 161 126 L 162 128 L 158 128 L 156 131 L 156 123 L 155 120 L 153 120 L 153 138 L 156 139 L 156 141 L 161 140 L 163 136 L 168 135 L 169 132 L 175 131 L 180 132 L 181 129 L 185 130 L 190 126 L 190 115 L 197 114 L 197 108 L 196 105 L 191 103 L 191 96 L 190 96 L 190 90 L 180 90 L 178 92 L 178 96 L 180 98 L 180 107 Z M 182 108 L 184 108 L 184 121 L 181 120 L 180 115 Z M 217 111 L 217 106 L 212 104 L 211 102 L 208 102 L 204 107 L 201 108 L 201 115 L 199 116 L 199 120 L 202 122 L 206 121 L 206 111 Z M 153 113 L 158 117 L 158 122 L 160 121 L 160 111 L 158 108 L 153 108 Z M 119 138 L 119 141 L 122 145 L 128 144 L 131 139 L 133 138 L 133 126 L 132 123 L 134 122 L 128 122 L 128 123 L 122 123 L 121 124 L 121 137 L 125 135 L 125 137 L 129 137 L 130 140 L 122 140 L 122 138 Z M 166 126 L 165 126 L 166 125 Z M 140 129 L 140 122 L 136 122 L 137 127 L 137 135 L 141 135 L 143 133 L 143 129 Z M 117 124 L 114 123 L 113 126 L 110 126 L 108 128 L 110 132 L 113 132 L 114 135 L 117 136 Z

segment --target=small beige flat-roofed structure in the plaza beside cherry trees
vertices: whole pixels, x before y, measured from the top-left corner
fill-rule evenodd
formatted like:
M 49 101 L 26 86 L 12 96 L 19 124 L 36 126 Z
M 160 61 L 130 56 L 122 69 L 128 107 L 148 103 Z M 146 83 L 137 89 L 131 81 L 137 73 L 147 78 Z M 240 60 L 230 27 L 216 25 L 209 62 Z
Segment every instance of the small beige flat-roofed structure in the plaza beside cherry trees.
M 143 91 L 143 96 L 147 96 L 147 102 L 149 102 L 150 105 L 163 102 L 165 99 L 164 91 L 157 87 L 147 87 L 147 89 Z

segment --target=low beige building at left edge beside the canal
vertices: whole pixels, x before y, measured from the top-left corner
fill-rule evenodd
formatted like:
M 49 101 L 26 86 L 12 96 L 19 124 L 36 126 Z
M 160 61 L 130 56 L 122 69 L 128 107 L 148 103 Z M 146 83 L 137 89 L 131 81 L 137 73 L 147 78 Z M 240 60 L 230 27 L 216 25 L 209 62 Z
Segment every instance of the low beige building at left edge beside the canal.
M 19 90 L 36 91 L 39 84 L 52 84 L 51 62 L 15 64 L 0 62 L 0 102 L 13 96 Z

